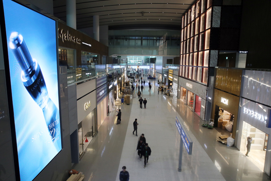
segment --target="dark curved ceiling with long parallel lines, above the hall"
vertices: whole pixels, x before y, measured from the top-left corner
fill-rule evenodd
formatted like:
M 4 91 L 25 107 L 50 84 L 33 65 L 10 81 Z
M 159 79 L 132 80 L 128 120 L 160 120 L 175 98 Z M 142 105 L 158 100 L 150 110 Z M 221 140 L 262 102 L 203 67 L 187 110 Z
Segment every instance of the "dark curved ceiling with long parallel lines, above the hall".
M 66 21 L 66 0 L 54 0 L 54 16 Z M 100 26 L 114 29 L 181 29 L 181 16 L 195 0 L 76 0 L 77 29 Z

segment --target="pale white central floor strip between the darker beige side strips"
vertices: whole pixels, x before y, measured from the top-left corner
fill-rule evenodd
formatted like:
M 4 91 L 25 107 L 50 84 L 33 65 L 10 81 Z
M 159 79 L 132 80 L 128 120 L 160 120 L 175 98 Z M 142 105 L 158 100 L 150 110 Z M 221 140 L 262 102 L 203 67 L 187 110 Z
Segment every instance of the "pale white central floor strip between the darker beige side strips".
M 181 136 L 175 126 L 175 117 L 181 116 L 166 95 L 157 95 L 156 88 L 152 86 L 151 95 L 147 87 L 143 91 L 142 98 L 148 100 L 147 109 L 140 109 L 139 102 L 134 99 L 119 171 L 125 165 L 131 181 L 225 181 L 191 132 L 193 153 L 188 155 L 183 147 L 182 169 L 178 172 Z M 138 135 L 145 134 L 152 151 L 146 168 L 143 168 L 144 159 L 140 161 L 135 151 L 138 139 L 132 134 L 135 118 L 139 124 Z M 119 181 L 119 175 L 116 181 Z

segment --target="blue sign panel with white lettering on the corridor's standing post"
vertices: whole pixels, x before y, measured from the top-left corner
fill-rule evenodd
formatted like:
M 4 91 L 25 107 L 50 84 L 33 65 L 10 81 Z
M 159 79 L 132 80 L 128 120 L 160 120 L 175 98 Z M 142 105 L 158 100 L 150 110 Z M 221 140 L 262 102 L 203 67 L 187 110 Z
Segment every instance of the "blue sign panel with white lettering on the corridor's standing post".
M 191 155 L 192 154 L 193 142 L 190 139 L 189 135 L 187 134 L 185 128 L 183 127 L 182 123 L 179 121 L 177 116 L 176 116 L 176 127 L 178 129 L 178 132 L 181 135 L 181 139 L 183 141 L 185 149 L 187 150 L 188 154 Z

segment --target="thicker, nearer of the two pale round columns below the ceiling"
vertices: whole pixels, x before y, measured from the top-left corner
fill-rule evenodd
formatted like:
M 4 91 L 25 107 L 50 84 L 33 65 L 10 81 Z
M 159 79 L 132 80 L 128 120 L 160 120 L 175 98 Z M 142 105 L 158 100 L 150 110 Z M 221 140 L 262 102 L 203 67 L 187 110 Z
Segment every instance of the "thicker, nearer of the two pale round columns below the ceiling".
M 67 26 L 76 30 L 76 0 L 66 0 Z

